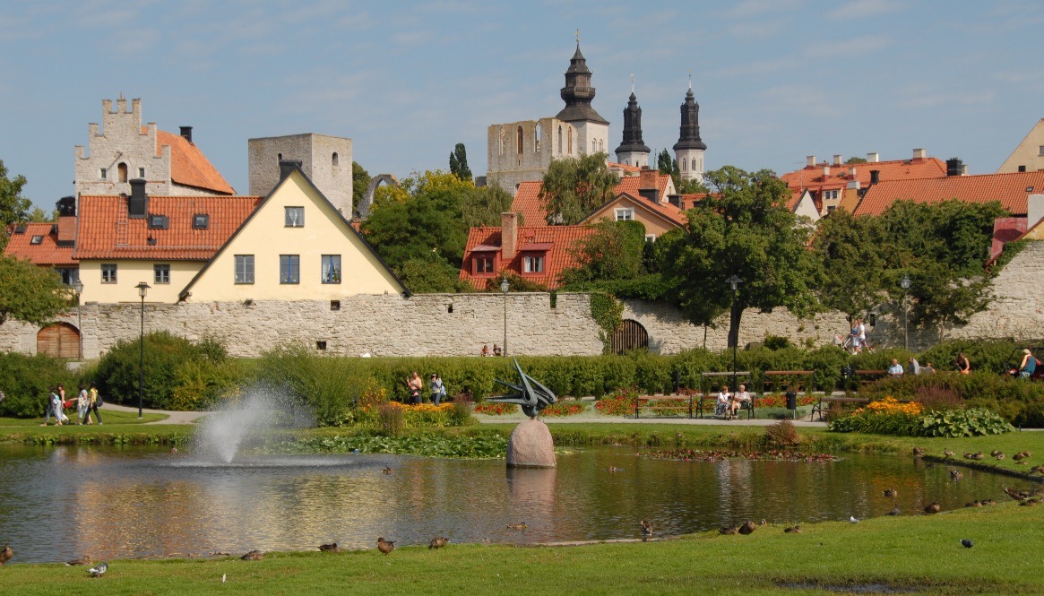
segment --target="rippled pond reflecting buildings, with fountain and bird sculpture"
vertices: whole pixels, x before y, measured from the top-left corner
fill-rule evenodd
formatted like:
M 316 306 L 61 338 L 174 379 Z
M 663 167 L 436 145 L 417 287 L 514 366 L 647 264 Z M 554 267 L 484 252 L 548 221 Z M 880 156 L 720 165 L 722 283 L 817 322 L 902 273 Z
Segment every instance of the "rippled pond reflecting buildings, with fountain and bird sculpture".
M 384 467 L 394 472 L 382 473 Z M 611 472 L 610 468 L 618 468 Z M 508 472 L 503 460 L 398 455 L 270 456 L 217 464 L 141 448 L 0 446 L 0 545 L 13 563 L 307 550 L 336 541 L 373 548 L 454 543 L 634 539 L 766 519 L 809 523 L 920 515 L 1006 498 L 1011 478 L 907 456 L 838 461 L 685 462 L 633 447 L 559 456 L 556 470 Z M 882 496 L 894 487 L 898 497 Z M 525 522 L 514 530 L 506 524 Z

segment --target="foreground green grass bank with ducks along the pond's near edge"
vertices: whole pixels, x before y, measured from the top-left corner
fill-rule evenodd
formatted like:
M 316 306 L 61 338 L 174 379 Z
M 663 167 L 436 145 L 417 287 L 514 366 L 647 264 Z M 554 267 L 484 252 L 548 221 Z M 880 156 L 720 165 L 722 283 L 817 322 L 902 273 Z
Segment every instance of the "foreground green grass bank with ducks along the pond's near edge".
M 0 568 L 0 586 L 13 595 L 757 595 L 875 585 L 921 594 L 1044 594 L 1040 574 L 1027 573 L 1033 553 L 1044 547 L 1044 534 L 1030 529 L 1041 522 L 1044 506 L 1006 501 L 936 516 L 806 525 L 801 534 L 765 526 L 748 537 L 707 532 L 576 547 L 400 545 L 388 556 L 369 550 L 277 552 L 261 562 L 118 561 L 100 579 L 82 568 L 8 565 Z M 637 520 L 635 527 L 637 534 Z M 974 547 L 963 548 L 962 539 Z

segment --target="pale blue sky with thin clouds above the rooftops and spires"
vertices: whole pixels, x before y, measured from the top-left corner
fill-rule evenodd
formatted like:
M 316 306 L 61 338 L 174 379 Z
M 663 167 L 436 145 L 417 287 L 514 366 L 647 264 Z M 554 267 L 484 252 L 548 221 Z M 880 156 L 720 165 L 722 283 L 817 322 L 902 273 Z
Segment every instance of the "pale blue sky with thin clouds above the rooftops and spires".
M 465 143 L 481 175 L 489 125 L 563 108 L 579 29 L 613 149 L 632 75 L 659 151 L 691 73 L 707 169 L 918 147 L 990 173 L 1044 117 L 1042 25 L 1039 0 L 3 2 L 0 161 L 49 211 L 122 93 L 144 122 L 193 126 L 242 194 L 247 139 L 301 133 L 351 138 L 399 177 L 447 170 Z

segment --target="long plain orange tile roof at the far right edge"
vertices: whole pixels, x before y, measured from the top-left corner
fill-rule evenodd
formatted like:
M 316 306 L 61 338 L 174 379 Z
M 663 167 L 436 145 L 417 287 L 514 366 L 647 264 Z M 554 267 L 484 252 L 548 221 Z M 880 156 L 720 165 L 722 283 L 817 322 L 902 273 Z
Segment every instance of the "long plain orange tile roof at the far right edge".
M 944 176 L 881 182 L 870 187 L 855 215 L 880 215 L 893 202 L 942 202 L 957 198 L 969 202 L 999 200 L 1012 215 L 1026 215 L 1026 195 L 1044 191 L 1044 171 Z

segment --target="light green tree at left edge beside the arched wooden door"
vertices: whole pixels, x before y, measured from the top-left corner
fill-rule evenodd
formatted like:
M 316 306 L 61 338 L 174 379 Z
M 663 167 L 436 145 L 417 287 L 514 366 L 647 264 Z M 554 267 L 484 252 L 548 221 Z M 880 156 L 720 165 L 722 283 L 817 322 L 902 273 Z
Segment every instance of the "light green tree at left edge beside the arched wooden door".
M 43 326 L 69 308 L 69 288 L 54 269 L 0 255 L 0 325 L 8 318 Z

